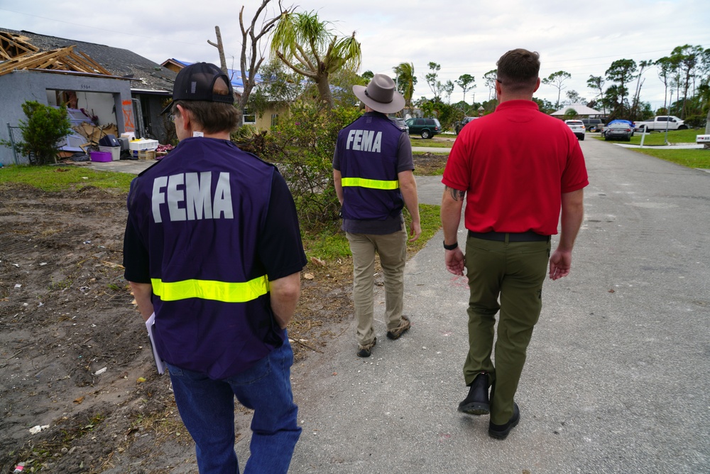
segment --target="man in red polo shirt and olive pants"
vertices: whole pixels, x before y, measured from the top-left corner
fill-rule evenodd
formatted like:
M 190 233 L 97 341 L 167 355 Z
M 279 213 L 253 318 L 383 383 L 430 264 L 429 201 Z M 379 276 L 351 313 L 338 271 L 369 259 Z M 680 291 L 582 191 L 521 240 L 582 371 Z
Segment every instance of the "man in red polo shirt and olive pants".
M 459 411 L 491 414 L 488 434 L 503 439 L 520 421 L 513 400 L 542 309 L 549 257 L 553 280 L 569 274 L 589 184 L 584 156 L 569 126 L 540 113 L 540 55 L 510 50 L 498 60 L 493 114 L 466 124 L 454 142 L 442 183 L 447 269 L 469 279 L 469 394 Z M 466 199 L 466 257 L 457 230 Z M 550 257 L 550 235 L 562 228 Z M 493 335 L 500 310 L 496 364 Z M 491 387 L 490 397 L 488 387 Z

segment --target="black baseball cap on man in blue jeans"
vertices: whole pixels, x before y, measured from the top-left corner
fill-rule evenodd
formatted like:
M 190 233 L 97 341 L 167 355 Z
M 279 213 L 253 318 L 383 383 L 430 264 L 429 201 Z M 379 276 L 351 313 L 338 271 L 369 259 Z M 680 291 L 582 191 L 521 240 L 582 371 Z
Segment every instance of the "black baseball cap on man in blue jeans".
M 228 95 L 214 94 L 214 82 L 222 77 L 229 89 Z M 167 114 L 173 107 L 176 100 L 204 100 L 206 102 L 223 102 L 234 104 L 234 90 L 231 87 L 229 77 L 211 63 L 195 63 L 178 72 L 173 86 L 173 100 L 168 107 L 160 112 L 160 115 Z

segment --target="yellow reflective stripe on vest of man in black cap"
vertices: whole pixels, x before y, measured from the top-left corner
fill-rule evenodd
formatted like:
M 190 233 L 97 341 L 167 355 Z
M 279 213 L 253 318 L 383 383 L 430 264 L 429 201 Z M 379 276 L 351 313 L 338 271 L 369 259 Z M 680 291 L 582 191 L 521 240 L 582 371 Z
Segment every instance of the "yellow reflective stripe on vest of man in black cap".
M 268 279 L 259 276 L 244 283 L 228 283 L 214 280 L 183 280 L 165 282 L 151 279 L 153 293 L 163 301 L 178 301 L 201 298 L 225 303 L 245 303 L 268 293 Z

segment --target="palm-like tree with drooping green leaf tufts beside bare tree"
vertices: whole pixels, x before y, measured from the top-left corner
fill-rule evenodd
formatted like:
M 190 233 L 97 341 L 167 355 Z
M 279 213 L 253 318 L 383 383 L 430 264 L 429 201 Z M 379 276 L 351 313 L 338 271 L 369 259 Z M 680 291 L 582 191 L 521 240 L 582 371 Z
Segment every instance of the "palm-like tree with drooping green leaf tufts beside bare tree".
M 355 32 L 348 38 L 338 38 L 329 25 L 329 21 L 320 21 L 315 11 L 286 11 L 273 32 L 271 50 L 289 68 L 310 77 L 324 106 L 332 109 L 328 76 L 342 68 L 358 70 L 361 50 Z

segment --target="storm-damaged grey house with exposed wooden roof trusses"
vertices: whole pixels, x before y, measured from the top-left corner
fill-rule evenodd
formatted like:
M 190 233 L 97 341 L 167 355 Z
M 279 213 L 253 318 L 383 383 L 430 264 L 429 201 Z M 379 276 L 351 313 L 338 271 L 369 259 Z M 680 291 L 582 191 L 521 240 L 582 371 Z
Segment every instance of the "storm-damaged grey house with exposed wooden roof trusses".
M 170 124 L 160 111 L 175 76 L 126 49 L 0 28 L 0 139 L 10 139 L 9 127 L 26 118 L 22 104 L 35 100 L 165 143 Z M 13 162 L 11 149 L 0 147 L 0 163 Z

